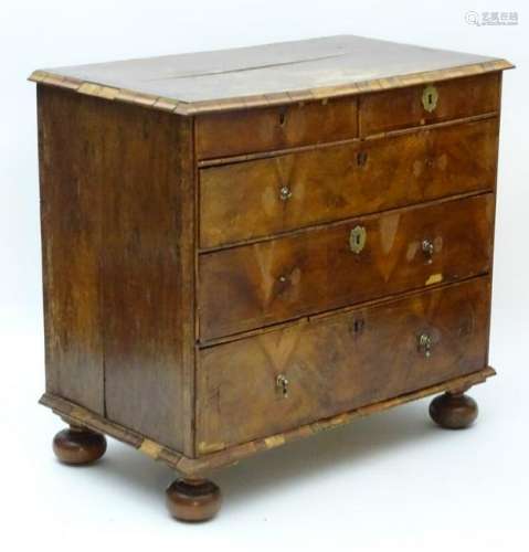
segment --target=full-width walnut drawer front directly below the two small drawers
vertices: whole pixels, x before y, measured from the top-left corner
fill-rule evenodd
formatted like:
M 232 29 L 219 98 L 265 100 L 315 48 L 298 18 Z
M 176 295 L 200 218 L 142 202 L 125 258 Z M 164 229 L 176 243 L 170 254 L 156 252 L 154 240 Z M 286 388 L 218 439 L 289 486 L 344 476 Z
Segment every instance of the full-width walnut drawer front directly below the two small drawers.
M 215 247 L 491 190 L 498 119 L 200 171 L 200 244 Z

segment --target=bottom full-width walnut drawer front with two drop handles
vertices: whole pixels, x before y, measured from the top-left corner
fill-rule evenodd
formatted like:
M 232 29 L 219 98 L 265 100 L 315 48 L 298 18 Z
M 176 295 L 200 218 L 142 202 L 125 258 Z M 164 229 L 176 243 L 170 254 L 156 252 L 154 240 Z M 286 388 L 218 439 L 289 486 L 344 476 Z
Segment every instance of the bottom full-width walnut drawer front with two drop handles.
M 484 277 L 203 349 L 199 454 L 485 368 L 489 294 Z

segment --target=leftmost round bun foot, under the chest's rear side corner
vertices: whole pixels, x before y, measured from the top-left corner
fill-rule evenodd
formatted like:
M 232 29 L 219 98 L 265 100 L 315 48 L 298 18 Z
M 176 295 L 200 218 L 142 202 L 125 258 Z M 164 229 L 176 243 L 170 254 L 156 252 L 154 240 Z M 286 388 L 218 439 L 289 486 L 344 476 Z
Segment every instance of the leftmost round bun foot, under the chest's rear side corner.
M 63 464 L 81 466 L 98 460 L 106 450 L 106 439 L 99 433 L 71 425 L 53 439 L 53 452 Z

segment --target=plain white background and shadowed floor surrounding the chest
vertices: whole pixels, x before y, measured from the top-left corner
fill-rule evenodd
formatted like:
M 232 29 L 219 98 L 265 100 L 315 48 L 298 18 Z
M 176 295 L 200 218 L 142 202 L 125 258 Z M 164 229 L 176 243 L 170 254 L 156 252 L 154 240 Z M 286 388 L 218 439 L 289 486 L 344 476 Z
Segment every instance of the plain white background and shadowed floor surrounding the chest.
M 467 11 L 517 11 L 470 26 Z M 220 471 L 219 518 L 166 513 L 170 469 L 109 442 L 88 468 L 51 452 L 44 388 L 32 70 L 330 34 L 507 57 L 491 364 L 473 429 L 444 432 L 427 402 Z M 2 550 L 528 550 L 529 13 L 521 1 L 6 1 L 0 7 L 0 534 Z

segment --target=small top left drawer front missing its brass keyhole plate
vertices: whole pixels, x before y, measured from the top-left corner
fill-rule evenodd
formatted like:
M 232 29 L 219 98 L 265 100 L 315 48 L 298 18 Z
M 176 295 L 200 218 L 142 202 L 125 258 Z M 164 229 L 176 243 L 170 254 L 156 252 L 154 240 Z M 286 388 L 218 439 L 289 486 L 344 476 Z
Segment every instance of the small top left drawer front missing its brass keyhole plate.
M 355 138 L 357 99 L 332 98 L 197 118 L 197 157 L 211 159 Z

